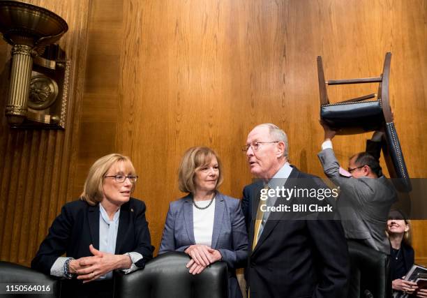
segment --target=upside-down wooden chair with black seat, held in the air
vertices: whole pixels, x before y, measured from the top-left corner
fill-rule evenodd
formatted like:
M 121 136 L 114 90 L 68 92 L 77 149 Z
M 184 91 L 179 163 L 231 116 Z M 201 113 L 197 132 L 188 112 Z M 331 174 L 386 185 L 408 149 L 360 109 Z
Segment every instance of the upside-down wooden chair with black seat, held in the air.
M 399 138 L 394 126 L 389 103 L 391 53 L 384 59 L 382 73 L 378 77 L 364 77 L 345 80 L 325 80 L 322 57 L 317 57 L 317 75 L 320 92 L 320 119 L 337 131 L 338 135 L 366 133 L 384 128 L 387 147 L 383 148 L 384 158 L 390 177 L 399 191 L 412 190 L 409 174 L 403 158 Z M 350 98 L 338 103 L 330 103 L 327 87 L 340 84 L 378 83 L 377 94 Z M 375 100 L 368 100 L 375 98 Z

